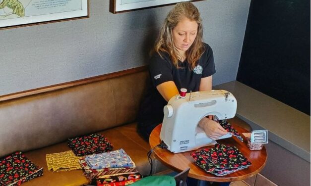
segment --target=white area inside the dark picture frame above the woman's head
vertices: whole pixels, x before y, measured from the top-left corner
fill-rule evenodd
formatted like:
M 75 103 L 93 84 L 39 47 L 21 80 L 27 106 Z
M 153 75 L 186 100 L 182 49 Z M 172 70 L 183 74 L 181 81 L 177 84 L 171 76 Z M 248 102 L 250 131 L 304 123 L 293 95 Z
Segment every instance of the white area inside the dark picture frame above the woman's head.
M 115 11 L 132 10 L 150 6 L 159 6 L 163 4 L 177 3 L 188 0 L 115 0 Z

